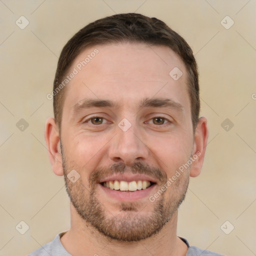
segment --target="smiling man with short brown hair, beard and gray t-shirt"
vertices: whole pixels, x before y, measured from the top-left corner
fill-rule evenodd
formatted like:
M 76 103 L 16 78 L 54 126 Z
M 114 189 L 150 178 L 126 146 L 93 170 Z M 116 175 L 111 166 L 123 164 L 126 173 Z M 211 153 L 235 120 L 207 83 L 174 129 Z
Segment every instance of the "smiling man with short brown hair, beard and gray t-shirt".
M 64 46 L 52 96 L 45 140 L 71 226 L 30 256 L 220 255 L 176 235 L 208 136 L 181 36 L 136 13 L 96 20 Z

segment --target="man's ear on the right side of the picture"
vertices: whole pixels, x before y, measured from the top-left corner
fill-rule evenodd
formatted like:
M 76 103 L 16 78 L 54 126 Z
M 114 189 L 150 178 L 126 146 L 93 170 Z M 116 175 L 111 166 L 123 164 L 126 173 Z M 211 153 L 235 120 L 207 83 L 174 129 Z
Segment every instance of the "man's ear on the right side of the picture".
M 206 144 L 208 139 L 208 128 L 207 120 L 205 117 L 200 117 L 194 132 L 194 144 L 193 144 L 193 155 L 192 164 L 190 169 L 190 176 L 196 177 L 200 174 Z

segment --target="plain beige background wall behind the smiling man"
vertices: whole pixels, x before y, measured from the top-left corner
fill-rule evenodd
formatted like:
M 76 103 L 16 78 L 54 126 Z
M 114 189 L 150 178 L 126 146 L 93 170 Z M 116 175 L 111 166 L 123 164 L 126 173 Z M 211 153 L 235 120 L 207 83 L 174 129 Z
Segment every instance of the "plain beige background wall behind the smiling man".
M 88 22 L 134 11 L 180 33 L 200 71 L 209 140 L 179 210 L 178 235 L 226 255 L 255 255 L 255 0 L 0 0 L 0 255 L 26 255 L 68 229 L 63 178 L 51 171 L 43 137 L 57 57 Z M 24 29 L 15 24 L 21 15 L 29 20 Z M 229 29 L 220 23 L 226 15 Z M 29 125 L 23 131 L 21 118 Z M 234 124 L 228 131 L 226 118 Z M 21 220 L 29 226 L 23 235 L 15 229 Z M 229 234 L 220 228 L 226 220 Z

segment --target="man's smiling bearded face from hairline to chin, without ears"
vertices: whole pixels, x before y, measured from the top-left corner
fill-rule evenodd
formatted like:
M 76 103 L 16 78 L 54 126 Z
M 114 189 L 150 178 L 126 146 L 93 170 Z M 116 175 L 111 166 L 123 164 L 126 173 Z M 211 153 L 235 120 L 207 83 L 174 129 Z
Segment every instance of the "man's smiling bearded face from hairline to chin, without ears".
M 98 53 L 79 70 L 94 48 Z M 174 67 L 183 73 L 177 80 L 169 75 Z M 171 218 L 188 185 L 190 167 L 149 200 L 192 154 L 185 66 L 166 46 L 118 43 L 86 48 L 73 68 L 78 73 L 66 85 L 61 122 L 71 202 L 111 238 L 150 237 Z M 66 176 L 73 169 L 80 175 L 75 182 Z

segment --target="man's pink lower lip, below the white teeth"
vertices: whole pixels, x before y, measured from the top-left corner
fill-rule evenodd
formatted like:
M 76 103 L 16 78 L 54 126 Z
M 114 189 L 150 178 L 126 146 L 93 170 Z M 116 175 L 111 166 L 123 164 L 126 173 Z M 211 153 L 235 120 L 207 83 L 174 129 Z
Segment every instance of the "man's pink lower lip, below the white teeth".
M 102 186 L 101 184 L 98 184 L 99 187 L 105 192 L 107 195 L 109 195 L 111 198 L 120 200 L 120 201 L 135 201 L 138 199 L 142 199 L 144 197 L 149 197 L 152 195 L 152 190 L 154 189 L 156 184 L 153 184 L 146 189 L 140 189 L 136 191 L 120 191 L 120 190 L 114 190 L 107 188 L 105 186 Z

